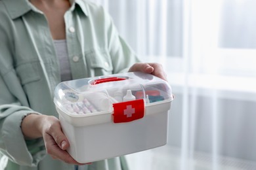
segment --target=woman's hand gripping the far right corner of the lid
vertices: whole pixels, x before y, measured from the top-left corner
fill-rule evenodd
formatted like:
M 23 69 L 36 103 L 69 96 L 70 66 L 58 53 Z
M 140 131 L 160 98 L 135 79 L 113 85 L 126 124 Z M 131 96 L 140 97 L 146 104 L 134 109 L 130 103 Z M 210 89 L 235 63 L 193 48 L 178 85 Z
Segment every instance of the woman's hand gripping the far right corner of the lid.
M 152 74 L 167 81 L 167 75 L 163 71 L 163 67 L 160 63 L 135 63 L 129 69 L 129 72 L 132 71 L 140 71 L 143 73 Z

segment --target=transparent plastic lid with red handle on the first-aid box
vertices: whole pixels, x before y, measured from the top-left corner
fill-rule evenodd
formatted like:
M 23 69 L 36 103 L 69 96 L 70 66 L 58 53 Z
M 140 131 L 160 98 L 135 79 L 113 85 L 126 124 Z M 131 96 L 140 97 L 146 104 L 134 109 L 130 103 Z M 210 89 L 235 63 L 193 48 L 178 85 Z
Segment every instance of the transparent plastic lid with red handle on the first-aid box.
M 54 103 L 67 114 L 112 112 L 112 104 L 144 99 L 145 105 L 173 99 L 168 82 L 156 76 L 130 72 L 60 82 Z

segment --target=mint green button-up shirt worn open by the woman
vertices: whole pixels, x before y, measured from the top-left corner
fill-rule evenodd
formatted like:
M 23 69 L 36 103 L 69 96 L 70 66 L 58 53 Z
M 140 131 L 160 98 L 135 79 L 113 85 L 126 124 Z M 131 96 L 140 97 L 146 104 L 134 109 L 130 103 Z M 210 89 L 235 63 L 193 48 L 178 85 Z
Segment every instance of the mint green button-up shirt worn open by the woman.
M 99 5 L 75 0 L 64 20 L 72 78 L 121 73 L 139 62 Z M 0 151 L 9 158 L 7 169 L 74 170 L 46 154 L 43 139 L 25 140 L 20 129 L 31 112 L 58 117 L 53 95 L 60 65 L 47 19 L 28 0 L 0 0 L 0 21 Z M 117 157 L 85 169 L 127 166 Z

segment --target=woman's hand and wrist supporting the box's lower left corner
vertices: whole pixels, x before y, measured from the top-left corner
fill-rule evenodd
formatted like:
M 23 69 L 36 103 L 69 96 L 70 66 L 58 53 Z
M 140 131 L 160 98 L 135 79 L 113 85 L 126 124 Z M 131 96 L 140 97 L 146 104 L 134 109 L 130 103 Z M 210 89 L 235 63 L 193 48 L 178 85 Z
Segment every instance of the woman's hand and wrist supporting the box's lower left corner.
M 53 159 L 66 163 L 83 165 L 74 160 L 66 149 L 70 146 L 68 139 L 62 132 L 58 118 L 54 116 L 29 114 L 22 121 L 22 132 L 27 138 L 43 137 L 47 154 Z

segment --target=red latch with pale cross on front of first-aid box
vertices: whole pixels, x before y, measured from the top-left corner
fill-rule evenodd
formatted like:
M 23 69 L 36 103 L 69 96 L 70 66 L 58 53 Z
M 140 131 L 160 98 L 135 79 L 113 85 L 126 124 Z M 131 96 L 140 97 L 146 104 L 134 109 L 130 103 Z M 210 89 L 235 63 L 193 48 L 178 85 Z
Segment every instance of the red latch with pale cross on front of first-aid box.
M 114 103 L 113 107 L 114 113 L 112 116 L 114 123 L 131 122 L 144 117 L 143 99 Z

